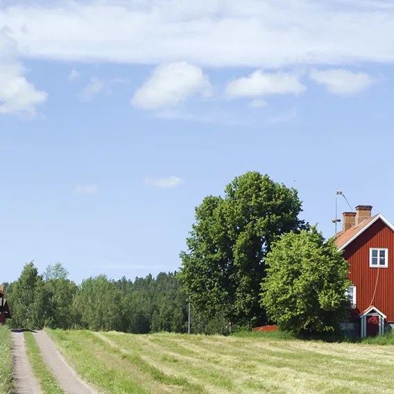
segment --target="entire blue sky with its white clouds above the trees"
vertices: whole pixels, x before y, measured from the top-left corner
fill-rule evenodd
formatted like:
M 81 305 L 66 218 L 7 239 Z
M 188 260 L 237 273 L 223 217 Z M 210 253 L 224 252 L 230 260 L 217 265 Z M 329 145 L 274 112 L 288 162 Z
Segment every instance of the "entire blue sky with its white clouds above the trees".
M 394 221 L 391 2 L 0 4 L 0 282 L 174 271 L 246 171 L 326 237 L 336 188 Z

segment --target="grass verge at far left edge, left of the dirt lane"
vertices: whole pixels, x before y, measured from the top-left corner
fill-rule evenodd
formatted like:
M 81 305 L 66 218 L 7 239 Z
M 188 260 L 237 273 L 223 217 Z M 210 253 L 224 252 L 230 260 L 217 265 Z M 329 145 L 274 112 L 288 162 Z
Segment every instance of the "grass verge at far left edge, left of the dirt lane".
M 0 394 L 12 393 L 11 332 L 0 325 Z

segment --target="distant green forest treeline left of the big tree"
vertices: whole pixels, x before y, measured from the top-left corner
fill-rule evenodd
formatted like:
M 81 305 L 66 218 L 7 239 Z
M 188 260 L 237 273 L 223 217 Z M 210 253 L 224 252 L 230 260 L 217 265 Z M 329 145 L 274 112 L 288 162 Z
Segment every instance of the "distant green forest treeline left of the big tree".
M 188 302 L 176 273 L 148 275 L 134 281 L 105 275 L 79 285 L 69 280 L 61 264 L 39 275 L 33 262 L 18 280 L 5 283 L 12 328 L 90 329 L 134 334 L 187 332 Z M 191 307 L 192 333 L 225 333 L 223 317 L 207 318 Z

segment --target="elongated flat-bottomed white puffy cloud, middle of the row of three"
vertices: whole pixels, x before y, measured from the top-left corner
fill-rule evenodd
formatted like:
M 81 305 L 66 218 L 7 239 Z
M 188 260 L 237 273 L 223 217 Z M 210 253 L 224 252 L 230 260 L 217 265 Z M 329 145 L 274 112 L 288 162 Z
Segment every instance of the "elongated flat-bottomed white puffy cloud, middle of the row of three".
M 302 94 L 306 87 L 300 83 L 300 76 L 278 71 L 266 73 L 262 70 L 252 72 L 228 83 L 225 93 L 232 97 L 258 97 L 270 94 Z

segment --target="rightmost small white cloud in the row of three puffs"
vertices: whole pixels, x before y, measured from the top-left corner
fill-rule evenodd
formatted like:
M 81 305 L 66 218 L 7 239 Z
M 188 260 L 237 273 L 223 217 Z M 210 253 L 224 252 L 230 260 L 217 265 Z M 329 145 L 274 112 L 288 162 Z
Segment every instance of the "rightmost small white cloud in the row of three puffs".
M 342 96 L 360 93 L 376 82 L 369 74 L 352 73 L 344 69 L 313 70 L 310 78 L 319 85 L 324 85 L 329 92 Z

